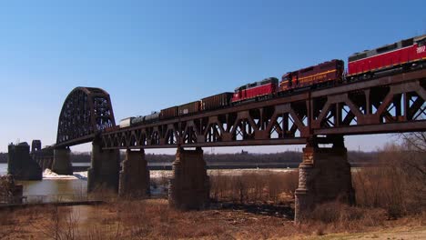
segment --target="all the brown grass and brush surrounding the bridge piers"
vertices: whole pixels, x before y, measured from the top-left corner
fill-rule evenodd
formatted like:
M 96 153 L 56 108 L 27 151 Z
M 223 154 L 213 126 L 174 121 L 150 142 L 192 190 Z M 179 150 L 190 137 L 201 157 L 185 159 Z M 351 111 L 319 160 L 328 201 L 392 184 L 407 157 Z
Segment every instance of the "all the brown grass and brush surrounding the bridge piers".
M 0 239 L 266 239 L 377 231 L 395 225 L 407 227 L 404 231 L 423 231 L 426 148 L 416 142 L 423 136 L 404 135 L 403 145 L 387 145 L 378 153 L 380 167 L 353 171 L 357 205 L 318 205 L 300 225 L 277 214 L 279 205 L 289 209 L 294 200 L 297 171 L 242 175 L 216 171 L 209 177 L 210 196 L 217 203 L 205 211 L 179 212 L 164 199 L 115 202 L 114 198 L 107 205 L 4 210 Z M 167 185 L 167 176 L 157 184 Z M 85 214 L 78 215 L 76 209 L 82 207 Z

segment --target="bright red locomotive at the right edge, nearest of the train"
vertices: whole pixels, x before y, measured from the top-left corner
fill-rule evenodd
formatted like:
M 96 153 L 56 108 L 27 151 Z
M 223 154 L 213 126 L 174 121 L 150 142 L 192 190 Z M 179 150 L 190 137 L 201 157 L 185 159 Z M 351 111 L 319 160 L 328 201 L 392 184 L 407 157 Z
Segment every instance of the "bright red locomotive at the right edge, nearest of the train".
M 360 75 L 412 65 L 426 60 L 426 35 L 350 55 L 348 75 Z

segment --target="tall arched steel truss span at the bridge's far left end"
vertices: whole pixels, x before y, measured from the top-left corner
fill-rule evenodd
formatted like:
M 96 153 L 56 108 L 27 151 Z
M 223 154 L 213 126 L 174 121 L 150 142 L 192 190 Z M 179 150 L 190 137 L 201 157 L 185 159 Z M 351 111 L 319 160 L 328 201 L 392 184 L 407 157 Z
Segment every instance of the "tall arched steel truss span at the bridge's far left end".
M 109 94 L 96 87 L 76 87 L 59 115 L 56 146 L 90 142 L 96 133 L 116 125 Z

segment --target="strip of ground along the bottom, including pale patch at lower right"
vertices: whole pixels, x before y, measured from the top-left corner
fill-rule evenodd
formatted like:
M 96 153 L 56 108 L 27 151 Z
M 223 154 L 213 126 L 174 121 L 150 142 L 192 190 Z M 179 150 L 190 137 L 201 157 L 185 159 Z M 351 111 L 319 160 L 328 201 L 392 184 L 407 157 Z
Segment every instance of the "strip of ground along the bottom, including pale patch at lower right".
M 426 239 L 424 218 L 401 218 L 350 233 L 295 225 L 288 205 L 212 205 L 179 212 L 167 200 L 0 211 L 0 239 Z

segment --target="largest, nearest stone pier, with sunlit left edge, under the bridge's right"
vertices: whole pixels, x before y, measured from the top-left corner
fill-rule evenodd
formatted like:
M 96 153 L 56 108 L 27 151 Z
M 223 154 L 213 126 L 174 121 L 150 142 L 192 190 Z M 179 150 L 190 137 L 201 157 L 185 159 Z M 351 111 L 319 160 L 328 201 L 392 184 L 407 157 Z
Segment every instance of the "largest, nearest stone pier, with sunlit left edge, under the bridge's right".
M 332 147 L 319 147 L 315 138 L 303 148 L 299 165 L 299 187 L 295 192 L 295 222 L 309 217 L 315 205 L 340 201 L 355 204 L 350 164 L 343 137 L 333 139 Z

